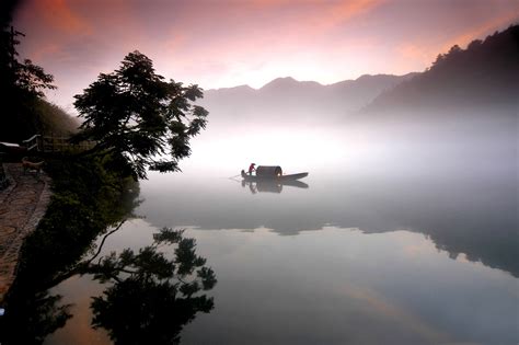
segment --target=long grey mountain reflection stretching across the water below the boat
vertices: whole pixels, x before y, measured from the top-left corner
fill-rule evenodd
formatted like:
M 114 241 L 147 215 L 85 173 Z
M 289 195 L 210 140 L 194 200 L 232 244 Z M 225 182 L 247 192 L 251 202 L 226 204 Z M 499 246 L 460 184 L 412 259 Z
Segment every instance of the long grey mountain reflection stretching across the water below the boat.
M 405 164 L 403 158 L 393 159 Z M 247 230 L 266 227 L 281 235 L 328 225 L 367 233 L 404 229 L 428 235 L 451 256 L 464 253 L 471 261 L 519 276 L 514 172 L 485 172 L 475 164 L 460 165 L 441 166 L 447 170 L 429 174 L 427 170 L 395 166 L 391 174 L 377 176 L 353 172 L 313 174 L 310 189 L 287 188 L 290 193 L 285 193 L 284 188 L 280 194 L 254 196 L 224 180 L 193 184 L 181 180 L 147 187 L 146 202 L 138 212 L 154 226 Z M 189 176 L 183 179 L 192 181 Z

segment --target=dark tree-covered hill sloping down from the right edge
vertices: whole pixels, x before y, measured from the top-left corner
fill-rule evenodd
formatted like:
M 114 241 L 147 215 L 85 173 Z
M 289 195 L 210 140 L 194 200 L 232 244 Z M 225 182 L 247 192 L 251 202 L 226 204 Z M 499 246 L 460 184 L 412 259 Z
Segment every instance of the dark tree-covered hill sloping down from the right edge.
M 380 94 L 362 113 L 446 108 L 516 112 L 519 100 L 519 25 L 453 46 L 415 78 Z

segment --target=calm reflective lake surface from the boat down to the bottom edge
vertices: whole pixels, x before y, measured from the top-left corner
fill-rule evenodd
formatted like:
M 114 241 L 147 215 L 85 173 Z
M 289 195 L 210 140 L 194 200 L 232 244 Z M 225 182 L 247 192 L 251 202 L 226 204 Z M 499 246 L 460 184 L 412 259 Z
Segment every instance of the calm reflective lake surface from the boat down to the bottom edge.
M 183 173 L 149 174 L 141 218 L 103 253 L 148 245 L 162 227 L 196 239 L 218 284 L 185 344 L 517 344 L 517 160 L 379 153 L 379 164 L 291 161 L 286 173 L 310 173 L 297 185 L 243 184 L 230 177 L 249 160 L 210 170 L 195 153 Z M 90 276 L 53 288 L 73 318 L 45 344 L 109 344 L 91 326 L 104 288 Z

